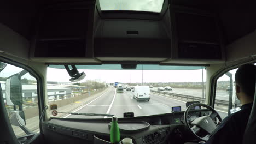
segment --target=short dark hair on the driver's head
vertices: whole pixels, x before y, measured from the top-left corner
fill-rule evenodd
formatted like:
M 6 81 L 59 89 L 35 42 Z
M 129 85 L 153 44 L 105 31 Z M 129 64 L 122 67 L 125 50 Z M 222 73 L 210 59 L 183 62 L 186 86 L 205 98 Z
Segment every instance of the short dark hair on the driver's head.
M 256 65 L 241 65 L 235 74 L 235 81 L 248 97 L 254 97 Z

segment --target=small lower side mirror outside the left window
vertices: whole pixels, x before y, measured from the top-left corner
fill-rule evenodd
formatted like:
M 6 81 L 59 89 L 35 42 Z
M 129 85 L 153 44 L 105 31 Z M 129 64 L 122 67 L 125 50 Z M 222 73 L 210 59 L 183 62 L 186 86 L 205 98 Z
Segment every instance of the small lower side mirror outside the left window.
M 26 125 L 24 111 L 10 111 L 10 123 L 18 127 Z

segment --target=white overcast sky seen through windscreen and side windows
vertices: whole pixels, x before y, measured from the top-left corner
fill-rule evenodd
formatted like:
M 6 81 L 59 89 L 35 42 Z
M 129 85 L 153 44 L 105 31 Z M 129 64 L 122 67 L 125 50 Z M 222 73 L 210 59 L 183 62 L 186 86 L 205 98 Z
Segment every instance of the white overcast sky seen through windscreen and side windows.
M 237 69 L 230 70 L 232 74 L 236 73 Z M 0 73 L 0 77 L 9 77 L 13 74 L 22 71 L 21 68 L 15 67 L 8 64 L 7 67 Z M 86 77 L 80 82 L 86 80 L 97 80 L 101 82 L 124 82 L 124 83 L 135 83 L 142 82 L 201 82 L 202 81 L 202 70 L 79 70 L 81 73 L 85 72 Z M 204 81 L 206 81 L 206 70 L 203 70 Z M 28 73 L 22 78 L 26 77 L 30 80 L 36 80 Z M 55 69 L 48 68 L 47 80 L 48 81 L 59 81 L 69 82 L 69 75 L 66 69 Z M 218 81 L 228 81 L 229 77 L 223 75 Z

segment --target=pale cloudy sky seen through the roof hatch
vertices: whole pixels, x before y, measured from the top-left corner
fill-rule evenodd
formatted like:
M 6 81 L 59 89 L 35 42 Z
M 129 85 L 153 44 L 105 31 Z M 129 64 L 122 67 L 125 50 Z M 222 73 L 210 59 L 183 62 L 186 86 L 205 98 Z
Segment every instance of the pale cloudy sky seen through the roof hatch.
M 164 0 L 100 0 L 101 10 L 136 10 L 160 12 Z

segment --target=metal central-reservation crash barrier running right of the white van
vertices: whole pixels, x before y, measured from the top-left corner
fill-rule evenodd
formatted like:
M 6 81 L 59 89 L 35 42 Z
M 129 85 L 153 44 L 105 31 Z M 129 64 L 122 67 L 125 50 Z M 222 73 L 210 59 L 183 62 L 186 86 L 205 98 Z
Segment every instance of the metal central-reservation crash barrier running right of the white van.
M 150 90 L 150 92 L 152 93 L 158 93 L 161 95 L 167 95 L 168 97 L 173 97 L 173 98 L 181 98 L 181 99 L 185 99 L 185 100 L 192 100 L 192 101 L 199 101 L 200 103 L 205 103 L 205 99 L 204 98 L 200 98 L 200 97 L 196 97 L 196 96 L 192 96 L 192 95 L 184 95 L 184 94 L 177 94 L 177 93 L 170 93 L 170 92 L 162 92 L 162 91 L 155 91 L 155 90 Z M 225 101 L 225 100 L 215 100 L 215 104 L 218 105 L 223 105 L 223 106 L 229 106 L 229 101 Z M 235 106 L 235 104 L 233 104 Z M 238 104 L 237 106 L 241 106 L 240 104 Z

